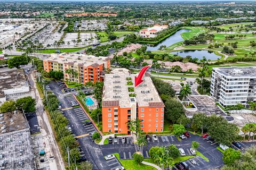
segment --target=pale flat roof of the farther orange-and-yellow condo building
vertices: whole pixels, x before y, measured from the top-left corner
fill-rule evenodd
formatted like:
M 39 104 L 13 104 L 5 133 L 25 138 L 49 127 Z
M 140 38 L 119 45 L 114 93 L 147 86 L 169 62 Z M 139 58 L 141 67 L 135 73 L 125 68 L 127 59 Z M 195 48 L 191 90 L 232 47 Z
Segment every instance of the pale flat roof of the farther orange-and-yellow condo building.
M 84 54 L 51 54 L 51 57 L 45 59 L 48 62 L 58 62 L 67 63 L 69 65 L 78 65 L 81 67 L 87 66 L 98 66 L 110 60 L 108 57 L 95 57 L 94 55 L 84 55 Z

